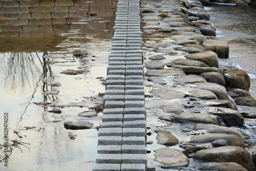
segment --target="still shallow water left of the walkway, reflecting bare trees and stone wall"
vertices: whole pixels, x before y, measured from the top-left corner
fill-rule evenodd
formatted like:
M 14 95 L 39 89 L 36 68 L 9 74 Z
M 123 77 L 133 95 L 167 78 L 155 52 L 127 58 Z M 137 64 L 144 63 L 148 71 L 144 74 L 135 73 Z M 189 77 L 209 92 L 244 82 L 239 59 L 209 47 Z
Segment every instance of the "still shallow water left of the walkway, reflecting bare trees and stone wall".
M 26 2 L 19 1 L 19 5 Z M 96 77 L 106 76 L 117 1 L 67 2 L 71 4 L 62 4 L 60 8 L 56 1 L 36 1 L 44 18 L 33 18 L 39 17 L 37 11 L 26 12 L 32 18 L 19 24 L 13 24 L 14 20 L 24 21 L 19 17 L 24 19 L 25 14 L 19 10 L 2 14 L 5 9 L 0 7 L 0 19 L 5 23 L 0 26 L 0 143 L 4 142 L 6 112 L 9 140 L 16 139 L 20 147 L 12 146 L 8 167 L 0 163 L 0 170 L 92 170 L 95 163 L 97 130 L 66 130 L 63 123 L 85 120 L 98 126 L 101 122 L 102 113 L 94 118 L 77 114 L 102 103 L 98 93 L 105 88 Z M 12 5 L 10 1 L 9 6 Z M 59 10 L 56 15 L 55 8 Z M 97 15 L 90 16 L 92 12 Z M 88 56 L 74 58 L 73 51 L 77 49 Z M 46 52 L 52 56 L 43 57 Z M 47 59 L 58 63 L 46 65 Z M 60 74 L 67 69 L 89 72 Z M 42 81 L 47 77 L 54 77 L 61 86 L 47 86 Z M 41 94 L 51 89 L 60 92 Z M 46 112 L 52 109 L 60 109 L 62 113 Z M 76 135 L 75 140 L 69 139 L 70 133 Z M 0 152 L 4 154 L 3 148 Z

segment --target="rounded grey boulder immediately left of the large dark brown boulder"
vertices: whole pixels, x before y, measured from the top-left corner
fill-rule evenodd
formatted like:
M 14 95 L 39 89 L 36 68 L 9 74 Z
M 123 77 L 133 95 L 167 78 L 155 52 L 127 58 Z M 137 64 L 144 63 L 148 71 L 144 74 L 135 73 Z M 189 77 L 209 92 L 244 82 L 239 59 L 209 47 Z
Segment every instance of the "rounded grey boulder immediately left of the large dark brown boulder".
M 224 76 L 220 73 L 217 72 L 207 72 L 207 73 L 203 73 L 200 74 L 201 77 L 204 77 L 206 79 L 207 82 L 213 82 L 213 83 L 217 83 L 223 87 L 226 86 L 226 82 L 224 79 Z

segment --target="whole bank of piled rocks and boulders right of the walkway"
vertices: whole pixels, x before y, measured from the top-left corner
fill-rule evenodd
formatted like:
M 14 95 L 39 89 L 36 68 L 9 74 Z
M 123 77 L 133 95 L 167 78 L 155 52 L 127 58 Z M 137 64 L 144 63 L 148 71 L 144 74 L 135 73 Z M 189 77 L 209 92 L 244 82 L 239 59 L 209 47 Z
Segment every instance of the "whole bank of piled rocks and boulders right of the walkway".
M 202 3 L 141 3 L 148 167 L 253 170 L 250 79 L 219 64 L 229 48 Z

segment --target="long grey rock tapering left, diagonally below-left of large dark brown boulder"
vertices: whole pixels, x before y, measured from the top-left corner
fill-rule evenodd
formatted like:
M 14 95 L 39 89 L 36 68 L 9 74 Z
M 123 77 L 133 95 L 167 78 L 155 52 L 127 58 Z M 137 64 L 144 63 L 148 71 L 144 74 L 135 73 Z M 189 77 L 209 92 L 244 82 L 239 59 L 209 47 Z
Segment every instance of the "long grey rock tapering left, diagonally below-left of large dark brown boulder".
M 198 82 L 194 83 L 193 85 L 195 85 L 198 89 L 204 89 L 213 92 L 218 97 L 218 99 L 228 100 L 226 89 L 219 84 L 212 82 Z

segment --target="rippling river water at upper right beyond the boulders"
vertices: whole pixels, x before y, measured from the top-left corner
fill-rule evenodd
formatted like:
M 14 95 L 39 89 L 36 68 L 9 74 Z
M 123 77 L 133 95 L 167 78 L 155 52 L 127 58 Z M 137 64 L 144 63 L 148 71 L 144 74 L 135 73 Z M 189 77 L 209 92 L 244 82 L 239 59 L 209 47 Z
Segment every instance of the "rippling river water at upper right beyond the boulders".
M 245 70 L 251 79 L 249 92 L 256 98 L 256 4 L 205 9 L 217 27 L 217 37 L 229 44 L 229 59 L 220 59 L 221 63 Z

